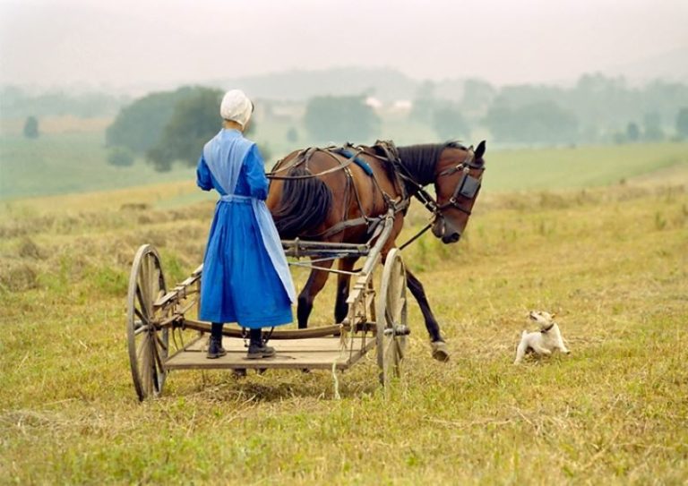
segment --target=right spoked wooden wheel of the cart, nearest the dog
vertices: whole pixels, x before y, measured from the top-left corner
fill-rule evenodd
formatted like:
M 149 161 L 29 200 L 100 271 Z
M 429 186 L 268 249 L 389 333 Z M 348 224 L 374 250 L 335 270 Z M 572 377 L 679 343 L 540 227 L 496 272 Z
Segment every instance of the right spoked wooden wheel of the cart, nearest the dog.
M 401 376 L 400 364 L 409 335 L 406 299 L 406 268 L 401 252 L 393 248 L 384 262 L 383 281 L 376 299 L 377 364 L 380 383 L 389 387 L 392 376 Z

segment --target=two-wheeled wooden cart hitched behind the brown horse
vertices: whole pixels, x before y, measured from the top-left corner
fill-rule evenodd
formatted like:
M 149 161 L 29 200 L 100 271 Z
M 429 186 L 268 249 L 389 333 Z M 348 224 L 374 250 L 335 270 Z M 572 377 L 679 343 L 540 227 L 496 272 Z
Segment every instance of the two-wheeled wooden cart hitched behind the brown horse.
M 133 385 L 141 400 L 162 393 L 168 371 L 209 369 L 326 369 L 347 370 L 364 354 L 377 349 L 379 379 L 389 387 L 400 376 L 400 363 L 409 335 L 407 323 L 406 271 L 401 254 L 392 249 L 384 263 L 379 291 L 375 292 L 374 269 L 394 222 L 390 211 L 377 234 L 366 244 L 283 241 L 294 265 L 300 258 L 313 262 L 347 256 L 365 257 L 348 294 L 348 316 L 340 324 L 319 328 L 275 330 L 280 340 L 277 353 L 262 360 L 246 359 L 245 339 L 240 328 L 224 326 L 227 354 L 205 357 L 209 322 L 185 317 L 198 305 L 202 266 L 173 288 L 168 288 L 159 252 L 142 245 L 133 259 L 127 295 L 126 328 Z M 331 270 L 337 272 L 339 270 Z M 189 337 L 187 329 L 198 331 Z M 171 338 L 170 338 L 171 337 Z

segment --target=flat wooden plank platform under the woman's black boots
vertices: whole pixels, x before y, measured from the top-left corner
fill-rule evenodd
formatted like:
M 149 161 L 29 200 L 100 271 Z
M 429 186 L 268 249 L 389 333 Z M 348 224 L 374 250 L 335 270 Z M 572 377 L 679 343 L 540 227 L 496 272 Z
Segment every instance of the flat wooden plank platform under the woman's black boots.
M 368 335 L 365 339 L 354 337 L 349 340 L 349 348 L 342 349 L 340 337 L 319 337 L 312 339 L 291 339 L 271 341 L 276 354 L 262 360 L 246 358 L 246 348 L 243 339 L 225 337 L 222 345 L 227 354 L 218 359 L 209 360 L 205 357 L 208 337 L 201 337 L 169 357 L 165 362 L 167 370 L 212 370 L 236 368 L 264 368 L 264 369 L 323 369 L 331 370 L 336 362 L 338 370 L 346 370 L 357 362 L 364 354 L 374 348 L 375 337 Z

